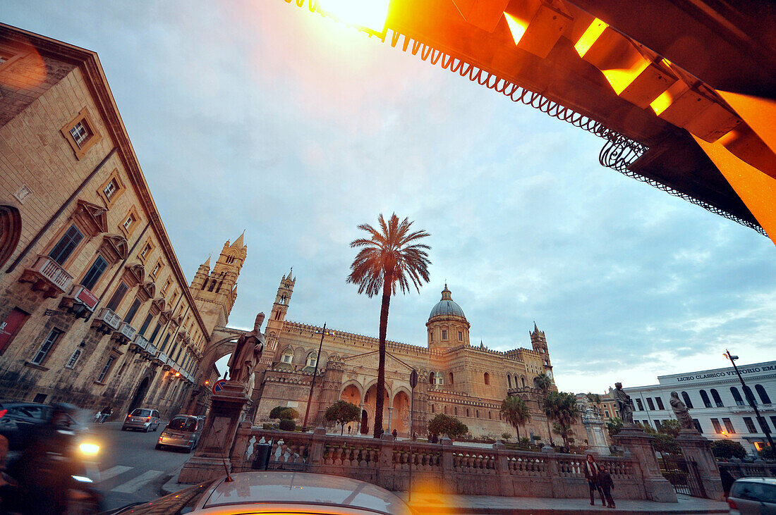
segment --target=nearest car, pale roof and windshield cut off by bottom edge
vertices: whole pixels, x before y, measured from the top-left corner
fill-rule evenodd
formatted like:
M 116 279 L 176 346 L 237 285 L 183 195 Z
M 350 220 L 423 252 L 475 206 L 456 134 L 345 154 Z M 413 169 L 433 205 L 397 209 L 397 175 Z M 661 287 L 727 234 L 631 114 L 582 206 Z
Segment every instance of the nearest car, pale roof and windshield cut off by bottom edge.
M 237 472 L 113 513 L 411 515 L 395 493 L 358 479 L 307 472 Z

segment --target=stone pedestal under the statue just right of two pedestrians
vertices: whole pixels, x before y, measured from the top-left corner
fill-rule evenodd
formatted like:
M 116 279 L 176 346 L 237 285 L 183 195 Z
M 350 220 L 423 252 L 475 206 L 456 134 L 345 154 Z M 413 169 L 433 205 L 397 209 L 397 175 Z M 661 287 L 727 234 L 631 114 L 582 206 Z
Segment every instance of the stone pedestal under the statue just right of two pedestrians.
M 677 503 L 674 486 L 660 474 L 660 465 L 657 464 L 652 448 L 653 440 L 654 437 L 639 427 L 625 427 L 615 436 L 615 443 L 622 445 L 626 452 L 629 451 L 641 468 L 646 499 L 658 503 Z

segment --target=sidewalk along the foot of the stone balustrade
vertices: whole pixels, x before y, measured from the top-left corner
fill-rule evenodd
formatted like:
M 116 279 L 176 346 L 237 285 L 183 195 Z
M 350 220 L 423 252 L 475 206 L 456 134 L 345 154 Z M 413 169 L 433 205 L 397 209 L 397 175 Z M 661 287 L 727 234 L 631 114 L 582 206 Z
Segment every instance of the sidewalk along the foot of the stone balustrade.
M 172 472 L 171 479 L 161 487 L 161 494 L 177 492 L 189 485 L 178 484 L 180 468 Z M 397 492 L 407 500 L 407 492 Z M 727 503 L 677 495 L 678 503 L 653 503 L 643 500 L 616 500 L 617 509 L 610 510 L 599 504 L 591 506 L 589 499 L 545 499 L 540 497 L 502 496 L 452 496 L 438 493 L 413 493 L 410 506 L 422 515 L 459 515 L 485 513 L 494 515 L 580 515 L 580 513 L 628 513 L 628 515 L 652 515 L 653 513 L 729 513 Z

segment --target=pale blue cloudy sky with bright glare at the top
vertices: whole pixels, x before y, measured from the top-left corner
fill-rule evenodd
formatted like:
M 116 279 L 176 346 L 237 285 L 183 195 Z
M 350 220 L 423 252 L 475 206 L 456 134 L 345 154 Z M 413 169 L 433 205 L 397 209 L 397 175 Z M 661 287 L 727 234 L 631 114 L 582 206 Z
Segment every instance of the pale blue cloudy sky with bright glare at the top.
M 230 326 L 272 309 L 376 336 L 345 283 L 380 213 L 431 236 L 388 338 L 425 344 L 448 284 L 473 345 L 546 332 L 556 383 L 604 392 L 776 358 L 776 252 L 601 167 L 604 141 L 283 0 L 4 0 L 0 20 L 95 50 L 185 275 L 245 231 Z

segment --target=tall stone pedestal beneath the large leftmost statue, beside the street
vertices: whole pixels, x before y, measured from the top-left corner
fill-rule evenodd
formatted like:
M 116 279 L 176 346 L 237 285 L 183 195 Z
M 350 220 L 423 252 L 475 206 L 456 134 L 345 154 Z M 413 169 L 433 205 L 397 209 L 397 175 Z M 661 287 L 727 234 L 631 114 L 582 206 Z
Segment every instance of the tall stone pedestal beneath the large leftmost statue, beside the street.
M 227 381 L 223 390 L 210 397 L 210 414 L 194 457 L 183 465 L 178 482 L 195 484 L 231 470 L 230 451 L 246 404 L 248 386 Z

